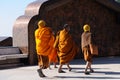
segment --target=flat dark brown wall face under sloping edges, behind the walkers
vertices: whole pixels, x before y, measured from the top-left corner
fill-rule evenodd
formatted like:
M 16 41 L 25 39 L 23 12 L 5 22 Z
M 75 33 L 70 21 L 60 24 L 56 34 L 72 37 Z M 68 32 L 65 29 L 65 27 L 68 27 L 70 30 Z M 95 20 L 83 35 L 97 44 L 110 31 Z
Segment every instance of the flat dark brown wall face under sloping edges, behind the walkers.
M 99 56 L 120 55 L 120 34 L 117 12 L 97 3 L 95 0 L 72 0 L 44 13 L 43 19 L 54 32 L 62 29 L 63 24 L 71 26 L 71 33 L 80 47 L 83 25 L 89 24 L 95 34 Z M 81 53 L 81 51 L 80 51 Z

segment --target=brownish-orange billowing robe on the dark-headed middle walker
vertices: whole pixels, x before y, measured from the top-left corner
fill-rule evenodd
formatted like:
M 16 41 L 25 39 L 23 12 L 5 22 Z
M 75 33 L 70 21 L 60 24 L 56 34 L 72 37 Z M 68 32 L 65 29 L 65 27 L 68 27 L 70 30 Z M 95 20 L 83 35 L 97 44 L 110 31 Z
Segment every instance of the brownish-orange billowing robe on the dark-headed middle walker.
M 58 40 L 58 56 L 60 64 L 69 63 L 74 58 L 78 48 L 76 47 L 71 35 L 66 30 L 60 31 Z

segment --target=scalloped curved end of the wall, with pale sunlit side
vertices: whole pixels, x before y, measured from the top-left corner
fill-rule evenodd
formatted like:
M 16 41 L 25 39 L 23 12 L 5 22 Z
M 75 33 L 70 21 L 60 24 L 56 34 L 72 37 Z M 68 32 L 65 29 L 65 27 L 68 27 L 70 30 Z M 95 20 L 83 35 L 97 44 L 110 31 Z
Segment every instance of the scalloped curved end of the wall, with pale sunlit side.
M 30 64 L 37 61 L 34 42 L 34 30 L 38 20 L 41 5 L 47 0 L 34 1 L 25 10 L 25 14 L 18 17 L 13 26 L 13 46 L 19 47 L 23 53 L 29 54 Z

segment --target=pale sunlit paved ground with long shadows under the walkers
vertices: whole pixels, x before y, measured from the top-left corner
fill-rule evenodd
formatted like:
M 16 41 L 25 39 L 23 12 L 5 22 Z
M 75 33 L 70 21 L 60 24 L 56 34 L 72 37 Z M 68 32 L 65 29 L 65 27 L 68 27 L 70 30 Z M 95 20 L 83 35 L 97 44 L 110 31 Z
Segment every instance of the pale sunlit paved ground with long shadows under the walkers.
M 84 66 L 83 59 L 73 60 L 71 72 L 64 65 L 66 73 L 58 73 L 52 65 L 52 70 L 44 70 L 46 78 L 38 76 L 36 71 L 38 66 L 2 69 L 0 70 L 0 80 L 120 80 L 120 57 L 94 58 L 92 67 L 95 72 L 90 75 L 83 73 Z

